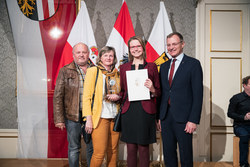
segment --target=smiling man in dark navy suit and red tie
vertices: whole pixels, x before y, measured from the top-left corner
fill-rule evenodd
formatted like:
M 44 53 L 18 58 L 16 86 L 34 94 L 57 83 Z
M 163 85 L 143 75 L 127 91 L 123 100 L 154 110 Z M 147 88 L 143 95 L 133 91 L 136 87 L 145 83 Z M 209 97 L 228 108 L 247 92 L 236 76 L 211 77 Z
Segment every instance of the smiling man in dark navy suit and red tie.
M 203 75 L 200 62 L 183 53 L 183 36 L 167 36 L 172 59 L 161 65 L 162 88 L 158 128 L 162 133 L 166 167 L 177 167 L 177 143 L 182 167 L 193 166 L 192 134 L 200 122 Z

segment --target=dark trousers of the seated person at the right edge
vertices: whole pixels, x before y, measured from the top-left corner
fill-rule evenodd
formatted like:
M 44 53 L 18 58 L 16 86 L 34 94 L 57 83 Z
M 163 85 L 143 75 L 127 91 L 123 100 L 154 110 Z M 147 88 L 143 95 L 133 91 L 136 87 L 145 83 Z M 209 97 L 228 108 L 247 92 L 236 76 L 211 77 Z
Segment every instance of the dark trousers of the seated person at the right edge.
M 250 138 L 250 126 L 245 125 L 235 125 L 234 133 L 240 138 L 239 148 L 240 148 L 240 166 L 248 164 L 248 149 L 249 149 L 249 138 Z

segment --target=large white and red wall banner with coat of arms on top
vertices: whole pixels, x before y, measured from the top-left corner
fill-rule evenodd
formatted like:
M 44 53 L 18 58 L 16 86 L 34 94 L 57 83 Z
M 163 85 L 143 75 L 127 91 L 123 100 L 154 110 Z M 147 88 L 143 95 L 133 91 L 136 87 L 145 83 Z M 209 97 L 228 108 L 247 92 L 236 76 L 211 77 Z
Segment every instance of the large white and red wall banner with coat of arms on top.
M 53 78 L 76 17 L 75 0 L 6 3 L 17 55 L 17 157 L 67 157 L 66 132 L 53 123 Z

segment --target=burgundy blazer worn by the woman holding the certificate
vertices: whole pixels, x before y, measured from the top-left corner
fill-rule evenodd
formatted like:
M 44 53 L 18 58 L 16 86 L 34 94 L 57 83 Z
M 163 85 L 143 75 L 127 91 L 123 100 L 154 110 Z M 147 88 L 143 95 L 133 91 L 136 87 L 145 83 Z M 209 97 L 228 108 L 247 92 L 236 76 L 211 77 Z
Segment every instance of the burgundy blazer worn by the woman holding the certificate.
M 121 65 L 120 67 L 120 84 L 121 84 L 121 93 L 122 101 L 126 97 L 127 94 L 127 79 L 126 79 L 126 71 L 131 70 L 132 62 L 125 63 Z M 159 73 L 157 70 L 157 66 L 154 63 L 147 63 L 144 64 L 144 69 L 148 69 L 148 77 L 153 82 L 153 85 L 155 87 L 155 93 L 156 97 L 160 96 L 161 90 L 160 90 L 160 81 L 159 81 Z M 155 97 L 151 97 L 150 100 L 142 100 L 141 101 L 142 107 L 144 111 L 146 111 L 149 114 L 155 114 L 156 109 L 156 100 Z M 122 107 L 122 113 L 125 113 L 129 108 L 130 102 L 128 101 L 128 98 L 126 99 L 123 107 Z

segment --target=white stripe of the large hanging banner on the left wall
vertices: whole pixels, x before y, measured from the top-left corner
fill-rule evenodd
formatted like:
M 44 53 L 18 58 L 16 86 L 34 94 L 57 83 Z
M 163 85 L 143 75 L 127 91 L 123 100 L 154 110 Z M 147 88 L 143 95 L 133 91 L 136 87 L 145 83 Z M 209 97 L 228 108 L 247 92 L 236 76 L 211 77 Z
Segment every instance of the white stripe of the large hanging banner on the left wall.
M 47 67 L 39 22 L 25 17 L 16 0 L 6 3 L 17 54 L 17 157 L 47 158 Z

